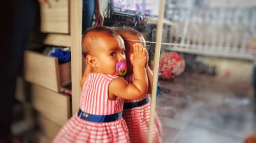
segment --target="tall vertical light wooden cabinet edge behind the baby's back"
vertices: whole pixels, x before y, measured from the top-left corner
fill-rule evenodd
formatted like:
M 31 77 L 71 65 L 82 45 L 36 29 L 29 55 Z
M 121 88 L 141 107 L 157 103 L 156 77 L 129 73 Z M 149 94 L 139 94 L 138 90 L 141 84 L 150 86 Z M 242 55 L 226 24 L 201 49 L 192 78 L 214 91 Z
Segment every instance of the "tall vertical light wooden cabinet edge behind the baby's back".
M 82 77 L 82 0 L 70 1 L 71 17 L 71 73 L 72 73 L 72 113 L 79 109 L 80 100 L 80 80 Z

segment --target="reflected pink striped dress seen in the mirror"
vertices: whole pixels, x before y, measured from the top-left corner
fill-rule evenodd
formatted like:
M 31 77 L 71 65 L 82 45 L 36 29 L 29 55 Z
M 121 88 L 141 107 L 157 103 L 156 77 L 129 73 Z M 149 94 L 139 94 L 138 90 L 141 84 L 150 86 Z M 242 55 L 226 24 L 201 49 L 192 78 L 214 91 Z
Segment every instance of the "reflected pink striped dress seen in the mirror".
M 125 80 L 129 83 L 132 83 L 134 80 L 133 74 L 127 76 Z M 145 95 L 145 98 L 148 95 Z M 138 102 L 140 100 L 124 100 L 124 104 L 131 103 L 131 102 Z M 125 120 L 128 129 L 129 129 L 129 136 L 131 142 L 147 142 L 147 134 L 148 134 L 148 126 L 150 124 L 150 102 L 139 106 L 133 107 L 130 109 L 123 109 L 123 119 Z M 153 142 L 162 142 L 162 127 L 160 120 L 155 113 L 154 119 L 154 133 L 153 133 Z

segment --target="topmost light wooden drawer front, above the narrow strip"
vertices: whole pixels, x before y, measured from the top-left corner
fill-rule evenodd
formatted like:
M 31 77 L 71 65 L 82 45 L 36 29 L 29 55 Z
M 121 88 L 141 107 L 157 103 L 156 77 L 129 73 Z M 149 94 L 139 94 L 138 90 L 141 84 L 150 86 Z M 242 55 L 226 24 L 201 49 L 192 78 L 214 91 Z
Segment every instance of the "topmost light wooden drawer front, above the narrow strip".
M 41 32 L 70 33 L 69 0 L 48 0 L 50 8 L 40 6 Z

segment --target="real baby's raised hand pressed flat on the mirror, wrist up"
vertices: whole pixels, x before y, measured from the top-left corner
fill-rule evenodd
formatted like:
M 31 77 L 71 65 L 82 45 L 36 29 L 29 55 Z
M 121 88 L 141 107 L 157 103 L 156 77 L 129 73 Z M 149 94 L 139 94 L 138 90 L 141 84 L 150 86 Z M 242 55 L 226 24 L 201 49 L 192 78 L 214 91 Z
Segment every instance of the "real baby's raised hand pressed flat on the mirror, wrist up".
M 135 43 L 133 45 L 133 54 L 131 55 L 131 63 L 133 67 L 144 67 L 146 62 L 145 57 L 146 49 L 143 48 L 141 43 Z

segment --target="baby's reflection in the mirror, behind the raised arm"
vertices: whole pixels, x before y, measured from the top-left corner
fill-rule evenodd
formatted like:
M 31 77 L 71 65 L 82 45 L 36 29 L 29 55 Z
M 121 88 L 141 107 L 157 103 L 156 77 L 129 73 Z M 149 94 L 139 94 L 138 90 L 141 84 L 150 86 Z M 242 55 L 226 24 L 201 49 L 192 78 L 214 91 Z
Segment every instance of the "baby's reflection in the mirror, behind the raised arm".
M 126 57 L 131 56 L 134 53 L 133 45 L 136 42 L 140 43 L 145 49 L 145 39 L 142 34 L 134 30 L 131 27 L 122 26 L 115 28 L 115 31 L 122 37 L 125 44 L 125 55 Z M 148 53 L 146 51 L 146 63 L 145 69 L 148 78 L 148 94 L 152 93 L 153 73 L 150 67 L 148 67 Z M 132 83 L 134 81 L 132 61 L 127 59 L 127 73 L 124 79 Z M 147 142 L 148 127 L 150 124 L 150 98 L 148 94 L 145 94 L 143 99 L 139 100 L 124 100 L 123 107 L 123 119 L 125 120 L 128 129 L 131 142 Z M 155 114 L 154 119 L 154 133 L 153 142 L 162 141 L 162 128 L 158 116 Z

